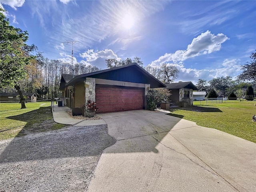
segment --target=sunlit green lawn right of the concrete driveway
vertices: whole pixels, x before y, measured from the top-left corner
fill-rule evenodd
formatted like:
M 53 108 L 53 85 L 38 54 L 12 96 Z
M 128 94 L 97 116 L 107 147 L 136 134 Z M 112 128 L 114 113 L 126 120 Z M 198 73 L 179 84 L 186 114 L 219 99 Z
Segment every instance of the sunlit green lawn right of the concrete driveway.
M 256 143 L 256 122 L 252 116 L 256 114 L 255 101 L 223 101 L 215 103 L 193 102 L 194 106 L 171 110 L 169 115 L 182 117 L 196 122 L 199 126 L 218 129 L 220 131 L 244 138 Z

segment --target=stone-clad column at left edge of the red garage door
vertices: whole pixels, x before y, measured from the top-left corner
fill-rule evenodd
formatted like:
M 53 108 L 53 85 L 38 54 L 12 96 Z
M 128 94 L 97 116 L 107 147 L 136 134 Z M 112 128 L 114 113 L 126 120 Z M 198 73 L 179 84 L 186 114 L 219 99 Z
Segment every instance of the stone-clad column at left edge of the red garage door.
M 95 102 L 95 78 L 87 77 L 84 83 L 85 86 L 85 101 L 86 104 L 88 100 Z M 87 110 L 87 106 L 86 109 Z M 85 111 L 85 116 L 87 116 L 87 112 Z

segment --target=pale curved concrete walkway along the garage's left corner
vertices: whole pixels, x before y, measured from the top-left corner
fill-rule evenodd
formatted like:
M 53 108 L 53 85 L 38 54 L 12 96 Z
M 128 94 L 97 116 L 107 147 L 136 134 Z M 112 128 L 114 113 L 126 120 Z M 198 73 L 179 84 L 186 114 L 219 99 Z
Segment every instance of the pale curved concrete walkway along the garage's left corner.
M 94 126 L 105 125 L 103 119 L 99 120 L 81 120 L 72 118 L 66 111 L 52 111 L 53 119 L 56 123 L 74 125 L 74 126 Z

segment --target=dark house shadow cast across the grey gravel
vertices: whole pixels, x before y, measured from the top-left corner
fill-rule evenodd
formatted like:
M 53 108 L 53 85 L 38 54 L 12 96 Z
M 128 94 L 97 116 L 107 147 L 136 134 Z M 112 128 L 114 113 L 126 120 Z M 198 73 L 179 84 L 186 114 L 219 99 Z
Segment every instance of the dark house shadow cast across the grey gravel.
M 0 163 L 47 158 L 95 156 L 116 142 L 108 135 L 106 125 L 71 127 L 66 130 L 31 134 L 0 142 Z

